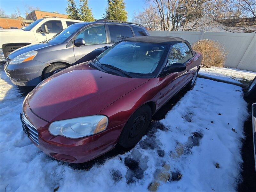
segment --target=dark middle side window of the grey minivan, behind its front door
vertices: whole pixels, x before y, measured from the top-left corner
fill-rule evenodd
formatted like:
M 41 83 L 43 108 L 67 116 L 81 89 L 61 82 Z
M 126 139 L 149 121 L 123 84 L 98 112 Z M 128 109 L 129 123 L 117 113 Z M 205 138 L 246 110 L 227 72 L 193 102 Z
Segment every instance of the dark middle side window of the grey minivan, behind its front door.
M 123 39 L 133 37 L 132 29 L 129 26 L 108 25 L 111 43 L 117 43 Z

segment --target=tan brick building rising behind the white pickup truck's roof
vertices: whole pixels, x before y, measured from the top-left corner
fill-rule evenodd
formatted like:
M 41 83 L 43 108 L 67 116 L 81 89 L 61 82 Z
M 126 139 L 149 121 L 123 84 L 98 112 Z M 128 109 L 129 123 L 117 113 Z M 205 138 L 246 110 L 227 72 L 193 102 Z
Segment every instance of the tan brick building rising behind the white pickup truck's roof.
M 35 20 L 47 18 L 47 17 L 68 18 L 68 15 L 61 14 L 58 12 L 47 12 L 47 11 L 39 11 L 39 10 L 34 10 L 30 13 L 26 13 L 26 19 L 28 20 L 35 21 Z

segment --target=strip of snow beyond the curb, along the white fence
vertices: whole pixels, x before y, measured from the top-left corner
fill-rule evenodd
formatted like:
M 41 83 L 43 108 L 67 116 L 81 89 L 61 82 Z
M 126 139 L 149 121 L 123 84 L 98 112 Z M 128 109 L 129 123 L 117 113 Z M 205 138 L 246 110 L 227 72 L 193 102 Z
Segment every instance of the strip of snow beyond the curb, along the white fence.
M 250 84 L 256 72 L 234 68 L 201 68 L 199 74 L 239 84 Z

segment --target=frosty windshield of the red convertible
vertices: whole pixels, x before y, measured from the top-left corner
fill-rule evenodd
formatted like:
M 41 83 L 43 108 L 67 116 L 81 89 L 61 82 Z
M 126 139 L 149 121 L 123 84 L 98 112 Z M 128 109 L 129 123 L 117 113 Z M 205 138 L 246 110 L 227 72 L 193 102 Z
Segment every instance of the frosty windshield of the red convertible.
M 114 66 L 138 78 L 150 78 L 158 73 L 167 50 L 167 45 L 122 41 L 101 53 L 94 62 Z

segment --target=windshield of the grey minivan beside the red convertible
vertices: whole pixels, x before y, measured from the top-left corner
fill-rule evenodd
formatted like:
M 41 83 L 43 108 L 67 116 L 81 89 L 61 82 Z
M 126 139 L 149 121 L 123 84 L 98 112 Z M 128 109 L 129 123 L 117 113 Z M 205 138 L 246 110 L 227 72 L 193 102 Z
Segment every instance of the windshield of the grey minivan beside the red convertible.
M 76 30 L 80 29 L 83 24 L 73 24 L 68 26 L 68 28 L 64 29 L 59 35 L 51 39 L 49 42 L 53 43 L 63 43 L 70 37 Z

